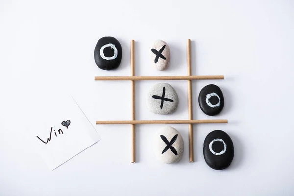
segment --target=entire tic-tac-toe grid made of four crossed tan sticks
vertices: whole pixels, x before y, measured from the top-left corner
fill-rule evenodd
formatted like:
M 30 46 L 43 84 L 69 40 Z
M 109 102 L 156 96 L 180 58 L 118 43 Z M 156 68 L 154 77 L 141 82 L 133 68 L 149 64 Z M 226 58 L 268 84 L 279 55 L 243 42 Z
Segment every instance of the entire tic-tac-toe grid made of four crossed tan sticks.
M 193 126 L 192 124 L 228 123 L 228 120 L 194 120 L 192 118 L 192 87 L 191 80 L 223 79 L 223 75 L 191 75 L 190 39 L 187 40 L 187 76 L 135 76 L 135 41 L 131 40 L 131 76 L 96 76 L 95 80 L 129 80 L 132 84 L 132 120 L 130 121 L 96 121 L 96 124 L 130 124 L 132 127 L 132 163 L 136 162 L 136 124 L 189 124 L 189 161 L 193 157 Z M 188 82 L 188 120 L 135 120 L 135 81 L 136 80 L 187 80 Z

